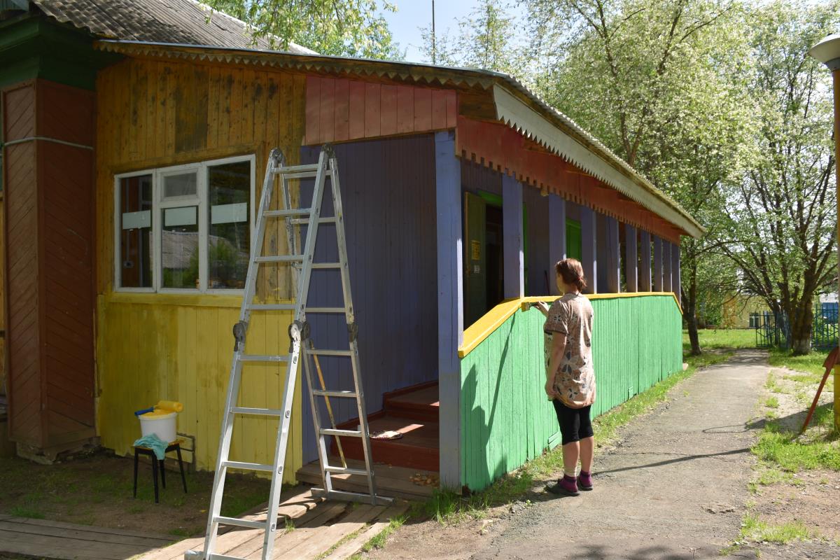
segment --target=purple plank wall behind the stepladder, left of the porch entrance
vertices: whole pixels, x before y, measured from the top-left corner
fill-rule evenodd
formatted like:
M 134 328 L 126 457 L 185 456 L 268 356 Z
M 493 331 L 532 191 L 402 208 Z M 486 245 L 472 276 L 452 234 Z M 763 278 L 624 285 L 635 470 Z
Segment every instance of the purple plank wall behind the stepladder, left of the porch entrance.
M 381 410 L 383 393 L 438 378 L 434 137 L 361 141 L 336 144 L 334 149 L 370 413 Z M 317 162 L 319 152 L 302 148 L 301 163 Z M 311 186 L 302 191 L 302 206 L 307 206 Z M 331 200 L 325 200 L 323 213 L 333 214 Z M 335 227 L 320 228 L 315 260 L 335 262 Z M 308 303 L 343 304 L 338 271 L 312 272 Z M 347 348 L 343 315 L 307 318 L 318 348 Z M 352 388 L 349 360 L 323 357 L 321 366 L 329 388 Z M 336 421 L 358 416 L 353 400 L 333 399 L 332 403 Z M 318 454 L 306 399 L 302 410 L 303 459 L 312 461 Z

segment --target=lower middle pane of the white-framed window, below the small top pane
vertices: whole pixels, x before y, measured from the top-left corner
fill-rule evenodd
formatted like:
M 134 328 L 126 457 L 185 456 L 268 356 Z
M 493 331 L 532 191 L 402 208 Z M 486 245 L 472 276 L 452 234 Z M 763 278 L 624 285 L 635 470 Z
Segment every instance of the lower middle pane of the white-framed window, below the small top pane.
M 198 207 L 161 212 L 160 259 L 163 287 L 198 287 Z

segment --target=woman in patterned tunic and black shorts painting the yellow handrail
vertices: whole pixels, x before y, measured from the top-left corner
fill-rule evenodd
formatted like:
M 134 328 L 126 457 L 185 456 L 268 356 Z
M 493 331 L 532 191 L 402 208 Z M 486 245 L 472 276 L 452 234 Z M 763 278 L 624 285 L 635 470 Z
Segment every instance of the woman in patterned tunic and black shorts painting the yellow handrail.
M 580 495 L 592 489 L 595 439 L 590 410 L 595 402 L 592 367 L 592 318 L 588 299 L 580 294 L 586 280 L 580 261 L 563 259 L 555 266 L 557 287 L 564 296 L 549 306 L 533 304 L 545 315 L 545 393 L 554 404 L 563 437 L 564 476 L 548 487 L 559 495 Z M 575 476 L 580 459 L 580 475 Z

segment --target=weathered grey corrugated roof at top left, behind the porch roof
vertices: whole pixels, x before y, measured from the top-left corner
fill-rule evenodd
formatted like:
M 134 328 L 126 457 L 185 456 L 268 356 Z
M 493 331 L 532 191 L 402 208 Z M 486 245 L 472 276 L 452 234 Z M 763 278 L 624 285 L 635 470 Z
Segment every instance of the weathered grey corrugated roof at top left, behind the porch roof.
M 214 12 L 195 0 L 32 0 L 39 10 L 106 39 L 151 43 L 206 44 L 223 48 L 270 49 L 239 19 Z M 290 43 L 289 52 L 314 51 Z

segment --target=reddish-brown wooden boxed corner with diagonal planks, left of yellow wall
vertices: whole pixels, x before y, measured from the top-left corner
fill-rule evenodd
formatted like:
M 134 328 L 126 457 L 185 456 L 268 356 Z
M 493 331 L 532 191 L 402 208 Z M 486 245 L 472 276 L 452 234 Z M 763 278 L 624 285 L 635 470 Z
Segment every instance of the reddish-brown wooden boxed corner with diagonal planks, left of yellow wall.
M 94 437 L 94 94 L 29 81 L 3 95 L 9 431 L 25 454 Z M 34 137 L 40 139 L 34 139 Z

